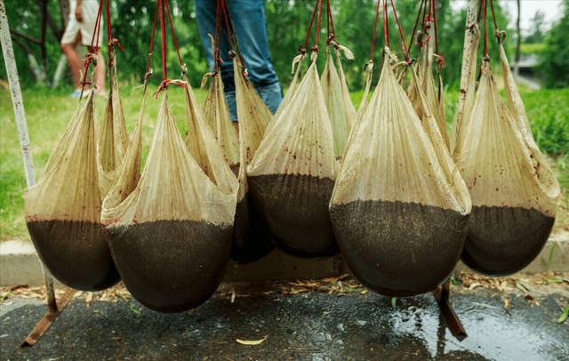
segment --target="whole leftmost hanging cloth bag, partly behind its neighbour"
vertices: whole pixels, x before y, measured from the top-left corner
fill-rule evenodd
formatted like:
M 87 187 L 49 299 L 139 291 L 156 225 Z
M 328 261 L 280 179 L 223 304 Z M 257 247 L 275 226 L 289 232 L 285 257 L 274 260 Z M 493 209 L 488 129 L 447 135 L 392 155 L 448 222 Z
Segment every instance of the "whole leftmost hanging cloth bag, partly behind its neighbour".
M 100 224 L 97 167 L 99 114 L 91 92 L 71 118 L 46 172 L 24 190 L 24 212 L 36 251 L 61 283 L 100 291 L 120 279 Z

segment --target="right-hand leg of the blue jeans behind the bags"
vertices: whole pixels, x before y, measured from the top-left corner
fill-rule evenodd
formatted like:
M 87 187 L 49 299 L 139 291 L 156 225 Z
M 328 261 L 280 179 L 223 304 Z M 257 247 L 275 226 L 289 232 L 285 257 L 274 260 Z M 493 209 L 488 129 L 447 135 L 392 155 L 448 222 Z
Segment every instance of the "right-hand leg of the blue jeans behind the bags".
M 249 78 L 260 98 L 275 113 L 283 92 L 268 51 L 265 1 L 228 0 L 228 7 Z

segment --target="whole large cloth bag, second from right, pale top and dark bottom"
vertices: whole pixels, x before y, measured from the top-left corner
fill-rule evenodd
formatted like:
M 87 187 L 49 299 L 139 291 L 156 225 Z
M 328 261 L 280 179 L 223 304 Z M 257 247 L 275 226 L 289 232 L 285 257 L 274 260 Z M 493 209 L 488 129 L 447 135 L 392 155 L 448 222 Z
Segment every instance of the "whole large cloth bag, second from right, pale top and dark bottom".
M 373 291 L 405 297 L 450 277 L 470 203 L 421 88 L 422 122 L 397 82 L 395 61 L 386 47 L 373 98 L 350 133 L 330 213 L 352 274 Z

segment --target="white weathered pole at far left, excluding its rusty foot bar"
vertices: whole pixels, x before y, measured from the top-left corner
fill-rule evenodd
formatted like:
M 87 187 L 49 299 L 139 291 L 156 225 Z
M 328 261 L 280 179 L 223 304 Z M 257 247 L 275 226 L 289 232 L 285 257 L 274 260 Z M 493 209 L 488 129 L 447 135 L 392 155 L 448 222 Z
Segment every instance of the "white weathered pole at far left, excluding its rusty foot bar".
M 34 159 L 32 158 L 31 146 L 29 145 L 28 124 L 26 123 L 26 113 L 24 112 L 24 101 L 21 99 L 18 68 L 16 68 L 16 58 L 14 57 L 12 37 L 10 36 L 10 28 L 8 27 L 8 18 L 6 17 L 4 0 L 0 0 L 0 42 L 2 43 L 4 63 L 6 64 L 6 73 L 8 74 L 8 82 L 10 83 L 14 114 L 16 115 L 16 123 L 18 123 L 18 134 L 20 135 L 20 147 L 21 154 L 24 159 L 26 181 L 28 182 L 28 187 L 31 187 L 36 184 Z M 52 274 L 45 268 L 45 266 L 44 277 L 49 309 L 56 310 L 57 305 L 55 303 L 55 295 L 53 293 Z

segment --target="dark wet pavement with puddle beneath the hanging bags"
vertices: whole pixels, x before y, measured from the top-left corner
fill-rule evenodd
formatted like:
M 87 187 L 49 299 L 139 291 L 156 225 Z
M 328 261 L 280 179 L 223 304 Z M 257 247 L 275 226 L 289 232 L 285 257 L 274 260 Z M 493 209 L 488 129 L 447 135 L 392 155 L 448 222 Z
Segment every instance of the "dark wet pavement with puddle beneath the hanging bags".
M 160 314 L 133 299 L 90 307 L 76 299 L 35 347 L 24 349 L 20 342 L 47 307 L 9 298 L 0 305 L 0 359 L 569 360 L 568 321 L 557 325 L 569 288 L 556 290 L 533 293 L 532 305 L 518 290 L 453 289 L 454 310 L 469 333 L 463 341 L 445 327 L 430 294 L 397 299 L 394 307 L 373 293 L 286 295 L 271 284 L 242 285 L 234 303 L 218 292 L 180 314 Z M 236 342 L 264 337 L 257 346 Z

